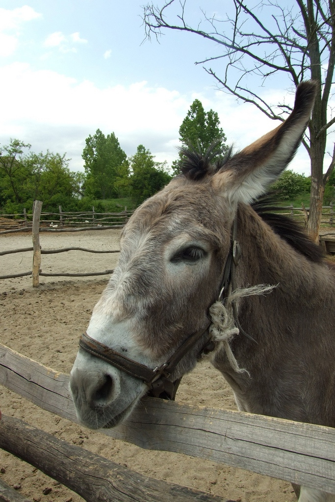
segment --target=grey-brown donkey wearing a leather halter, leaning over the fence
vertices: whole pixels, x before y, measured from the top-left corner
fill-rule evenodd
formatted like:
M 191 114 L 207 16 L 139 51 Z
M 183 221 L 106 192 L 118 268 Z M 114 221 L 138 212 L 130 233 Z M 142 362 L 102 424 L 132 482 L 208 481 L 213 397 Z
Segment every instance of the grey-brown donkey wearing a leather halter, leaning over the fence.
M 335 276 L 295 224 L 251 205 L 293 158 L 314 95 L 301 83 L 289 117 L 235 155 L 185 152 L 134 212 L 71 371 L 82 424 L 120 424 L 149 390 L 173 398 L 211 351 L 239 410 L 335 426 Z M 301 487 L 300 502 L 330 500 Z

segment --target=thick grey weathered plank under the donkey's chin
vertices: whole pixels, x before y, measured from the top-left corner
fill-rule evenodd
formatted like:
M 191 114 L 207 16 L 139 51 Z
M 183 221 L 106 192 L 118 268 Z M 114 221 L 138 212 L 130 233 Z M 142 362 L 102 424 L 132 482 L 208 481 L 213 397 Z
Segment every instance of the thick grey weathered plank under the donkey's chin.
M 77 421 L 68 375 L 0 345 L 0 383 Z M 100 432 L 142 448 L 197 456 L 335 493 L 335 429 L 144 398 L 131 420 Z

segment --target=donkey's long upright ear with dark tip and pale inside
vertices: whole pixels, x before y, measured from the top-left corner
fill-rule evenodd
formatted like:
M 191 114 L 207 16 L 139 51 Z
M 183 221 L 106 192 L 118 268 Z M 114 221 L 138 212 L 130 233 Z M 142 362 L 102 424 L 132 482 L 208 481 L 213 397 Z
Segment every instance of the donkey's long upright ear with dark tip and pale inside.
M 276 129 L 232 157 L 214 176 L 231 201 L 250 203 L 264 194 L 293 159 L 314 104 L 316 83 L 298 85 L 292 113 Z

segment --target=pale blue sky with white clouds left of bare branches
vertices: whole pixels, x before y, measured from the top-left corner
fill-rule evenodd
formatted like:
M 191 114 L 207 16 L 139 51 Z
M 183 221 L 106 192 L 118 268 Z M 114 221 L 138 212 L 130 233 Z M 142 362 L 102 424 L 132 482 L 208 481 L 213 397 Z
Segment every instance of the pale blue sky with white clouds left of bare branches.
M 85 138 L 100 129 L 114 132 L 128 156 L 142 144 L 156 161 L 171 165 L 179 127 L 195 98 L 205 111 L 218 113 L 236 149 L 277 127 L 252 104 L 218 90 L 202 65 L 194 64 L 215 55 L 214 44 L 174 30 L 159 41 L 145 40 L 146 3 L 0 0 L 0 145 L 17 138 L 35 153 L 66 153 L 70 169 L 83 171 Z M 200 20 L 197 0 L 189 5 L 191 18 Z M 208 13 L 222 16 L 224 5 L 205 2 Z M 259 91 L 277 102 L 288 85 L 278 81 Z M 303 147 L 290 168 L 309 175 Z

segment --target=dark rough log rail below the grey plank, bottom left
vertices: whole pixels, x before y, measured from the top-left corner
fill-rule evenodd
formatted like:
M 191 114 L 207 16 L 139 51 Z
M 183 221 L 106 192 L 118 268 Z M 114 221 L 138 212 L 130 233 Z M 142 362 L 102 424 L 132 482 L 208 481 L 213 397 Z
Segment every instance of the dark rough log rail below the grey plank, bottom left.
M 0 421 L 0 448 L 34 465 L 87 502 L 222 501 L 218 496 L 143 476 L 13 417 Z M 9 502 L 20 500 L 23 502 L 22 498 Z

